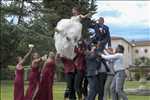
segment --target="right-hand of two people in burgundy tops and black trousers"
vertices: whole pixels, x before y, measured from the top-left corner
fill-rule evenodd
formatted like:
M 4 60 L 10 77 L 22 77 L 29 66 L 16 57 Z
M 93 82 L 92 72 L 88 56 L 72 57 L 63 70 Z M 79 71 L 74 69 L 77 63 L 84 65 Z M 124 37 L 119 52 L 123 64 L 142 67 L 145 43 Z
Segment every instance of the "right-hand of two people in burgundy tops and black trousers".
M 82 99 L 82 83 L 84 79 L 85 69 L 86 69 L 86 61 L 85 61 L 85 43 L 83 40 L 78 42 L 78 47 L 75 47 L 76 57 L 74 59 L 75 63 L 75 91 L 78 95 L 78 100 Z

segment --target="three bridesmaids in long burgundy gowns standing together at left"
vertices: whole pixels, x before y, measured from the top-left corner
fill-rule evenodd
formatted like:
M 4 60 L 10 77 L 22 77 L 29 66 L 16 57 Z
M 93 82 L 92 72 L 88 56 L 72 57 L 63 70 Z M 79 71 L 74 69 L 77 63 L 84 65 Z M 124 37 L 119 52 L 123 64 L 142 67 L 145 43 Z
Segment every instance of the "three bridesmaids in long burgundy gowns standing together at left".
M 24 95 L 24 67 L 23 63 L 30 55 L 32 48 L 22 58 L 17 57 L 14 79 L 14 100 L 53 100 L 52 85 L 54 80 L 55 55 L 50 52 L 48 57 L 32 54 L 29 83 Z

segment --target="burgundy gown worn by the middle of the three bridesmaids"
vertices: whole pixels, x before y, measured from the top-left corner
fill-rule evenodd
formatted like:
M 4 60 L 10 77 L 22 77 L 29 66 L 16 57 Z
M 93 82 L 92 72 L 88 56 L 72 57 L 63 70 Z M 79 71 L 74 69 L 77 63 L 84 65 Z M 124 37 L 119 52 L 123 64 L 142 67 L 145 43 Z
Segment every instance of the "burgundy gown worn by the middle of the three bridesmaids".
M 34 92 L 40 80 L 40 72 L 37 64 L 33 64 L 29 73 L 29 86 L 27 88 L 25 100 L 32 100 Z

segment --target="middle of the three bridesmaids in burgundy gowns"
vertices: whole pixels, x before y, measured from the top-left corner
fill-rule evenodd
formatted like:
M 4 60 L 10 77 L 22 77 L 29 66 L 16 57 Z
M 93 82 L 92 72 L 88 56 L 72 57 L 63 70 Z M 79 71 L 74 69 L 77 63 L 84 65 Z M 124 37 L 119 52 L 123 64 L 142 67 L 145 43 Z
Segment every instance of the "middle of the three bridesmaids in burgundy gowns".
M 34 92 L 40 81 L 39 63 L 41 58 L 39 58 L 38 53 L 34 53 L 32 59 L 31 71 L 29 73 L 29 86 L 27 88 L 25 100 L 33 99 Z

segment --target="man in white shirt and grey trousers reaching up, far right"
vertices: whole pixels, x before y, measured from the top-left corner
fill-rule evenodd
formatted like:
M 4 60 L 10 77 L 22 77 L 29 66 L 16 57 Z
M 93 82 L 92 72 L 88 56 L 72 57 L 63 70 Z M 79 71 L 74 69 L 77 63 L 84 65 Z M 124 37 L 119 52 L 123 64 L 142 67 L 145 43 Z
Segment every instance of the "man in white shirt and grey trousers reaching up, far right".
M 123 66 L 123 53 L 124 47 L 122 45 L 118 45 L 115 54 L 101 54 L 102 58 L 114 61 L 115 76 L 111 84 L 112 100 L 118 100 L 119 98 L 128 100 L 125 92 L 123 91 L 123 86 L 126 78 L 125 66 Z

